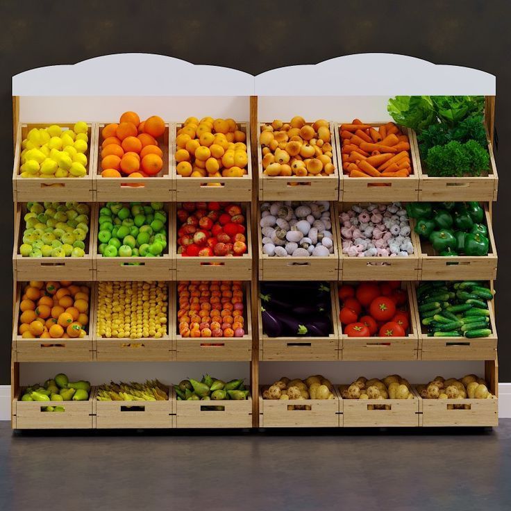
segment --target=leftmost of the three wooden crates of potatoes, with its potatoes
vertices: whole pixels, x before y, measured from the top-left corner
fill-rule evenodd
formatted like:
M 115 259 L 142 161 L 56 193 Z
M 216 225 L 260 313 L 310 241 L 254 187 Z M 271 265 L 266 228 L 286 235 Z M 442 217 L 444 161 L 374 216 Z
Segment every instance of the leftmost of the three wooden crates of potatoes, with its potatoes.
M 259 392 L 261 428 L 338 428 L 342 408 L 334 385 L 320 374 L 305 380 L 286 376 Z

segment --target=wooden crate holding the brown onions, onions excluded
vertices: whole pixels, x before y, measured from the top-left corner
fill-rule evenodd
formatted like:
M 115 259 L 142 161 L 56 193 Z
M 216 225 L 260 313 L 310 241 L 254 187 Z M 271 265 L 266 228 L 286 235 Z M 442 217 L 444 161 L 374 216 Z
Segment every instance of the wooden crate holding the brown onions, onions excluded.
M 330 122 L 332 145 L 332 163 L 335 171 L 330 176 L 267 176 L 262 169 L 262 148 L 258 133 L 258 170 L 260 201 L 337 201 L 339 199 L 339 169 L 337 162 L 336 139 L 334 124 Z M 306 124 L 313 124 L 308 122 Z

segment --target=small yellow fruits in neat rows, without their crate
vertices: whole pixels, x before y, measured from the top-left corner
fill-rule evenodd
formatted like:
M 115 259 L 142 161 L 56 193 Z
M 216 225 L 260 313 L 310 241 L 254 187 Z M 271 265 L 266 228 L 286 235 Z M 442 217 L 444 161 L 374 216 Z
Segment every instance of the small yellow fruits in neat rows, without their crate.
M 100 282 L 97 333 L 118 339 L 159 339 L 167 333 L 165 282 Z

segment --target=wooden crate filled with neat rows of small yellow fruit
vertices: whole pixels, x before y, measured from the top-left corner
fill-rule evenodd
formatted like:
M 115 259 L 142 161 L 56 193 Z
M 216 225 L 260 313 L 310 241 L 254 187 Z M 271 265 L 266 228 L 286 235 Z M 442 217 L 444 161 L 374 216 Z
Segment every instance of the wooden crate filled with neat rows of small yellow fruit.
M 174 360 L 174 331 L 168 283 L 97 283 L 94 349 L 97 360 Z

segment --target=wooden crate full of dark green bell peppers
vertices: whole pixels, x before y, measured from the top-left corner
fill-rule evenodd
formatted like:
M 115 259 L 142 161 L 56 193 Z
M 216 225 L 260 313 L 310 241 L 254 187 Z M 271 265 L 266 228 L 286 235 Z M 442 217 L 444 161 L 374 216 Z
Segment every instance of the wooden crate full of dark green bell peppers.
M 421 280 L 494 280 L 497 253 L 487 206 L 469 202 L 407 204 L 421 240 Z

